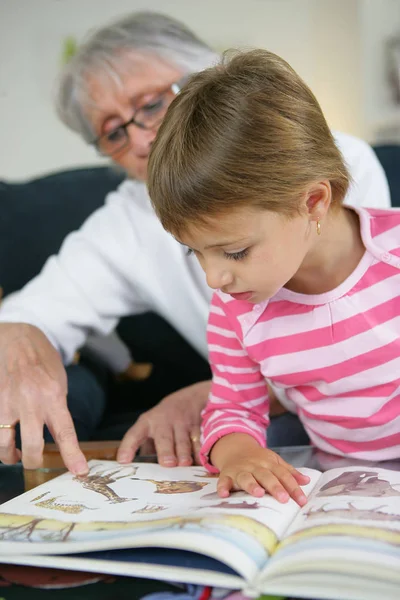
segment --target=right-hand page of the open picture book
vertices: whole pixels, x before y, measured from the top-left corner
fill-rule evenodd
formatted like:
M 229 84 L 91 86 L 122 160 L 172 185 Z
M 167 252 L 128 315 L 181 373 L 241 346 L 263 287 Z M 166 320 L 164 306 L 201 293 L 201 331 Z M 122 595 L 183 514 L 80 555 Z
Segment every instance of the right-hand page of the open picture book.
M 398 590 L 399 471 L 349 466 L 321 476 L 260 574 L 260 585 L 305 572 L 309 581 L 331 578 L 338 587 L 350 579 L 360 590 L 368 581 Z

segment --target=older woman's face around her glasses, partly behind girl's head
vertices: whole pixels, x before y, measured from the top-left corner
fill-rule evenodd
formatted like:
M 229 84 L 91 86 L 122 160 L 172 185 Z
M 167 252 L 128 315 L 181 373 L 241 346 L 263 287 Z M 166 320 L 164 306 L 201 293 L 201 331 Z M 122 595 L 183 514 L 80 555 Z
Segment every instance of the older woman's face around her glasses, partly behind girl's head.
M 179 81 L 183 75 L 182 71 L 155 57 L 135 57 L 129 74 L 126 71 L 128 69 L 120 75 L 120 84 L 108 76 L 93 76 L 89 80 L 92 102 L 86 112 L 96 137 L 110 133 L 126 123 L 138 109 L 152 106 L 159 94 Z M 147 179 L 150 148 L 158 127 L 159 123 L 149 130 L 130 125 L 126 130 L 128 145 L 111 157 L 133 179 Z

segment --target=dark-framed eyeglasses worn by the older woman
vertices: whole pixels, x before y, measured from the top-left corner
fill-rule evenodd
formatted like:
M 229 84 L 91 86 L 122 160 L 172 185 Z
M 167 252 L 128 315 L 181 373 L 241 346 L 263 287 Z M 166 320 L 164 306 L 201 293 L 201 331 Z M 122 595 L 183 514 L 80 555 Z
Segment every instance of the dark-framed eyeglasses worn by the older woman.
M 181 91 L 187 77 L 173 83 L 166 90 L 158 94 L 151 102 L 138 108 L 131 119 L 122 123 L 108 133 L 100 135 L 91 144 L 104 156 L 118 154 L 130 145 L 128 127 L 136 125 L 139 129 L 156 129 L 167 112 L 175 96 Z

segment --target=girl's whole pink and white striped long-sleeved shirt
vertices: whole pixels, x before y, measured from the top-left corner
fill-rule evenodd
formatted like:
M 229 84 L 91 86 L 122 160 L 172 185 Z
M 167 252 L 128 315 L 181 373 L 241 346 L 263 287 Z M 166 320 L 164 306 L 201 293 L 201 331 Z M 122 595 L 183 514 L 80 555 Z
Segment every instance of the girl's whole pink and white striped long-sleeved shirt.
M 228 433 L 266 445 L 267 380 L 318 448 L 367 460 L 400 457 L 400 211 L 357 213 L 366 251 L 336 289 L 305 295 L 282 288 L 256 305 L 214 294 L 204 464 Z

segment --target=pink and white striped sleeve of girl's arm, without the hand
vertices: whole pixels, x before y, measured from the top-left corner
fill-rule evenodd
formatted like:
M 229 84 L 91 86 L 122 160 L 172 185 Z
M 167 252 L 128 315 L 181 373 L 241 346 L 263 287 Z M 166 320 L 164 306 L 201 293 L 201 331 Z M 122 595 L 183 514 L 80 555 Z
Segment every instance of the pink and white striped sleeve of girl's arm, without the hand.
M 208 403 L 202 413 L 201 460 L 207 469 L 218 470 L 209 462 L 211 448 L 229 433 L 247 433 L 261 446 L 266 445 L 269 425 L 269 399 L 266 381 L 260 366 L 249 358 L 242 343 L 238 315 L 230 314 L 229 305 L 221 296 L 213 296 L 207 326 L 212 386 Z

